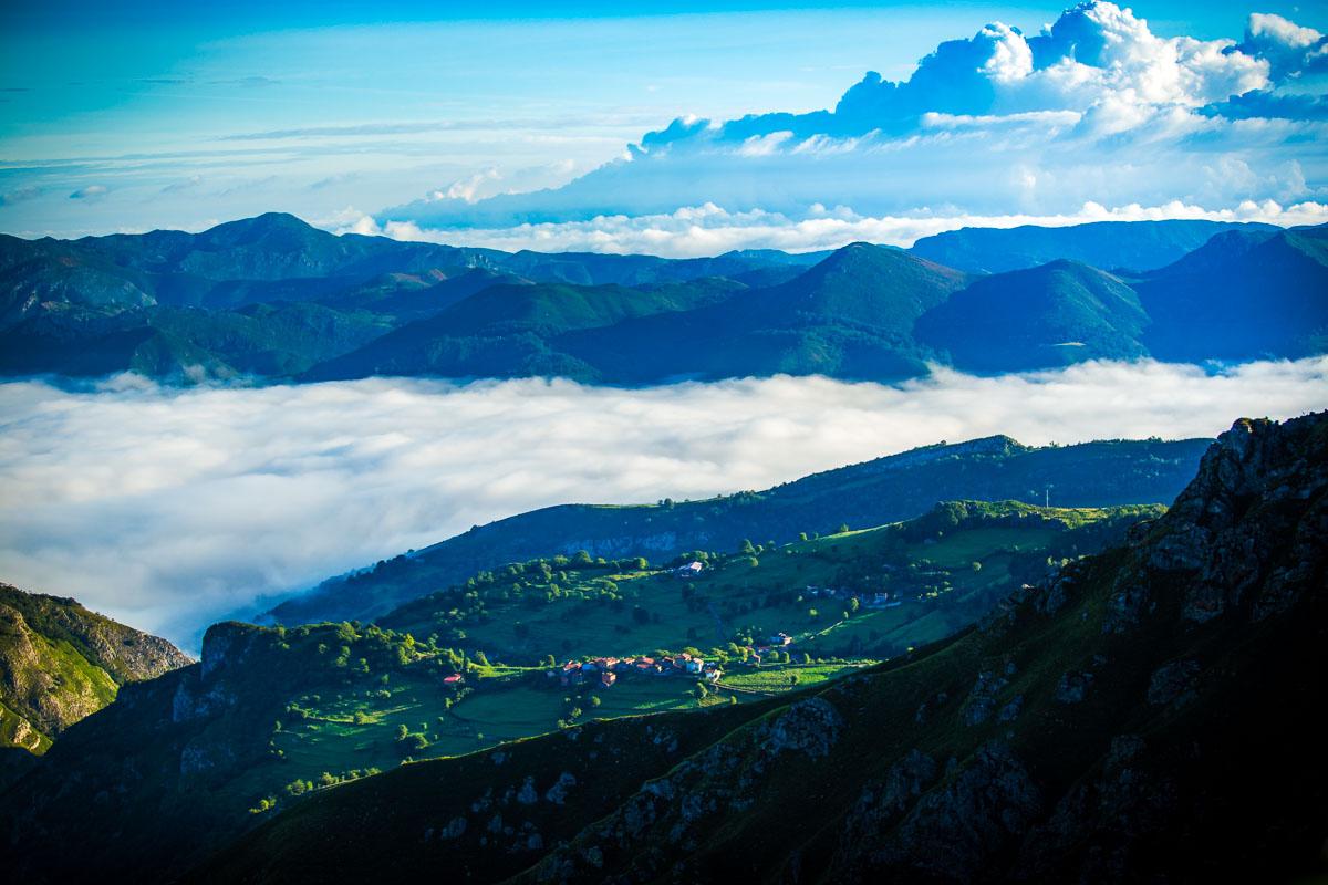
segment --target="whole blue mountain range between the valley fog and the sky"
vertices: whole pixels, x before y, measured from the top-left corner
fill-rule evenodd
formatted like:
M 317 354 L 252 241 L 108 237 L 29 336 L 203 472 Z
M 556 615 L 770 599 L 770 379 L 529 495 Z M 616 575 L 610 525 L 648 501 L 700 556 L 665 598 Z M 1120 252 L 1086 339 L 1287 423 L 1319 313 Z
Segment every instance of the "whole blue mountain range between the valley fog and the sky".
M 335 236 L 280 214 L 202 234 L 4 236 L 0 373 L 640 385 L 1296 358 L 1328 346 L 1325 238 L 1134 222 L 669 260 Z

